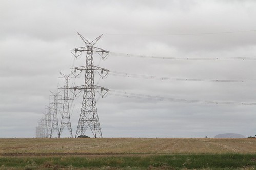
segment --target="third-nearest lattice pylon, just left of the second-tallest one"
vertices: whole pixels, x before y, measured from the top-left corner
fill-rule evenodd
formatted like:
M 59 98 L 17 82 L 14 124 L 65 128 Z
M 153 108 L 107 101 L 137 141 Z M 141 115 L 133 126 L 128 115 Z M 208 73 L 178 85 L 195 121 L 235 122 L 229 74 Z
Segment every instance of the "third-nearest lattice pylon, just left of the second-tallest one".
M 59 131 L 59 128 L 58 128 L 58 95 L 60 92 L 57 92 L 57 93 L 53 93 L 51 92 L 52 95 L 51 96 L 54 96 L 54 102 L 50 103 L 50 104 L 53 104 L 53 118 L 52 118 L 52 127 L 51 127 L 51 135 L 50 135 L 50 138 L 52 138 L 52 135 L 54 133 L 54 130 L 56 131 L 57 135 L 58 135 L 58 138 L 60 138 L 60 131 Z

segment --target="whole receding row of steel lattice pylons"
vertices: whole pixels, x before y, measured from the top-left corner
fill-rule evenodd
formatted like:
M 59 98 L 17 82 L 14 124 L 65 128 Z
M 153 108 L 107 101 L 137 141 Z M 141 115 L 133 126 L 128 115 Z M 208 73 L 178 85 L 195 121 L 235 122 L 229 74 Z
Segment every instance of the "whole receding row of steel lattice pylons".
M 95 138 L 102 138 L 99 116 L 97 114 L 95 90 L 101 90 L 102 92 L 103 90 L 108 91 L 108 89 L 94 84 L 94 71 L 107 72 L 108 70 L 94 66 L 93 53 L 101 53 L 102 58 L 104 58 L 103 54 L 106 53 L 108 55 L 109 51 L 106 51 L 102 48 L 94 47 L 96 42 L 102 37 L 103 34 L 91 42 L 85 39 L 81 34 L 78 33 L 78 35 L 81 37 L 86 46 L 74 48 L 73 50 L 71 50 L 71 52 L 74 51 L 74 53 L 72 54 L 75 55 L 76 58 L 83 52 L 86 52 L 86 62 L 85 66 L 71 68 L 71 70 L 74 70 L 74 72 L 76 72 L 77 70 L 85 71 L 84 84 L 80 86 L 69 87 L 68 79 L 73 78 L 71 76 L 73 73 L 71 72 L 71 74 L 69 75 L 64 75 L 61 73 L 62 77 L 59 78 L 64 79 L 64 86 L 58 89 L 63 89 L 64 96 L 63 98 L 60 98 L 60 92 L 51 92 L 52 94 L 50 95 L 50 101 L 51 98 L 53 98 L 53 102 L 50 102 L 50 106 L 47 106 L 47 111 L 45 111 L 43 118 L 41 118 L 37 123 L 37 138 L 52 138 L 54 132 L 56 132 L 58 138 L 60 138 L 65 126 L 67 126 L 68 128 L 70 136 L 73 137 L 69 110 L 69 101 L 73 99 L 69 97 L 69 90 L 74 90 L 73 93 L 75 93 L 76 90 L 84 91 L 75 138 L 84 136 L 88 128 L 91 130 Z M 77 52 L 79 52 L 80 54 L 77 55 Z M 60 112 L 60 110 L 58 109 L 58 105 L 61 104 L 58 102 L 59 99 L 63 100 L 60 126 L 58 125 L 58 112 Z

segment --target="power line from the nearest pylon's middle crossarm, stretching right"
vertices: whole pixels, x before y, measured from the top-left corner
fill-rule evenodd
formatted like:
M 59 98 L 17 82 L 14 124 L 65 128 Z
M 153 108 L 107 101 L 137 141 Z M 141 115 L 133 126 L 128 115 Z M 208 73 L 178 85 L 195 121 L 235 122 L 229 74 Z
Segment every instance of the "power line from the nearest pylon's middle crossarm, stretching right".
M 201 82 L 235 82 L 235 83 L 255 83 L 255 79 L 251 80 L 228 80 L 228 79 L 187 79 L 187 78 L 171 78 L 171 77 L 160 77 L 160 76 L 148 76 L 131 74 L 127 72 L 109 71 L 109 75 L 122 76 L 131 78 L 142 78 L 142 79 L 155 79 L 155 80 L 174 80 L 174 81 L 201 81 Z

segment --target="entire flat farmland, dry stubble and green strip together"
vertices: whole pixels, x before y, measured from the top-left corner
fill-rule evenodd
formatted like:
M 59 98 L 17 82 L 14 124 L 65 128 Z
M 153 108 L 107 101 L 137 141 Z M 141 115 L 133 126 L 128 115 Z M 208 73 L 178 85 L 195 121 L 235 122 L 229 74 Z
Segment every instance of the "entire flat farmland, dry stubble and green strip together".
M 1 169 L 255 169 L 256 139 L 0 139 Z

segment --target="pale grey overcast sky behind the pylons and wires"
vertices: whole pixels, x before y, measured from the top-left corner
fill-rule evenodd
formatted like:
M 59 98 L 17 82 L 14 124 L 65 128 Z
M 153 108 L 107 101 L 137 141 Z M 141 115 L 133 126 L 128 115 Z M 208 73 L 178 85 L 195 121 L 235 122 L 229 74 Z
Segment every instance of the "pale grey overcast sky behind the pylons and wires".
M 111 71 L 180 79 L 256 79 L 256 60 L 207 60 L 256 56 L 255 1 L 0 2 L 0 138 L 35 137 L 50 91 L 63 86 L 59 72 L 69 74 L 70 68 L 85 65 L 86 53 L 75 59 L 70 52 L 85 45 L 77 32 L 89 41 L 104 34 L 95 46 L 111 53 L 104 60 L 95 53 L 94 65 Z M 82 73 L 74 83 L 83 81 Z M 100 79 L 95 73 L 95 84 L 112 90 L 105 98 L 96 92 L 103 137 L 256 134 L 256 105 L 232 104 L 256 103 L 255 82 L 114 75 Z M 114 90 L 231 104 L 125 98 L 111 95 Z M 81 97 L 70 106 L 73 134 Z M 90 131 L 86 135 L 93 136 Z

